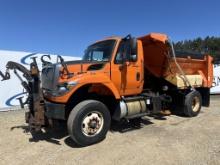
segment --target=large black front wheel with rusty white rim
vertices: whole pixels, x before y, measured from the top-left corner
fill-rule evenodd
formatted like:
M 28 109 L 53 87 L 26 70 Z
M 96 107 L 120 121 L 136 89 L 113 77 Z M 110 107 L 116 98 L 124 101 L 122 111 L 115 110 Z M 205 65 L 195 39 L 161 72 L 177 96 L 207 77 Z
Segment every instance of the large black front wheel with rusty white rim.
M 110 112 L 102 102 L 85 100 L 71 111 L 67 129 L 78 145 L 88 146 L 105 139 L 110 123 Z

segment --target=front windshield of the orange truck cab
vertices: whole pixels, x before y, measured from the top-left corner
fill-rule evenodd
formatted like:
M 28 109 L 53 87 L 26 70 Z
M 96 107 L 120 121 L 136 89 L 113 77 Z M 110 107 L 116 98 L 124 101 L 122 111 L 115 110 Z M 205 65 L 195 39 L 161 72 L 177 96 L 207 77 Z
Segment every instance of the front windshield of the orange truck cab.
M 115 46 L 115 40 L 106 40 L 95 43 L 85 50 L 83 60 L 85 61 L 104 61 L 107 62 L 111 58 L 112 51 Z

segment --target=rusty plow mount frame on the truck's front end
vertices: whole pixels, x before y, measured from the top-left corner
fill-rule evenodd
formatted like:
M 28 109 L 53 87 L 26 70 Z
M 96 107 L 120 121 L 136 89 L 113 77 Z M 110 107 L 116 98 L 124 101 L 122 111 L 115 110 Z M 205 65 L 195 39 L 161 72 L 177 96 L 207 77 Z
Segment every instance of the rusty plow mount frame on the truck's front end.
M 5 81 L 11 78 L 10 70 L 13 70 L 14 74 L 21 81 L 21 85 L 28 93 L 26 101 L 23 102 L 22 98 L 18 98 L 18 100 L 21 108 L 24 108 L 24 105 L 28 104 L 29 111 L 25 113 L 25 120 L 26 123 L 29 124 L 31 131 L 40 131 L 47 123 L 45 117 L 45 101 L 43 98 L 42 88 L 40 86 L 40 71 L 36 58 L 37 57 L 32 57 L 33 62 L 30 64 L 30 70 L 19 63 L 9 61 L 6 64 L 5 74 L 0 71 L 0 77 L 2 77 L 2 81 Z M 18 71 L 23 73 L 22 76 L 25 80 L 23 80 Z

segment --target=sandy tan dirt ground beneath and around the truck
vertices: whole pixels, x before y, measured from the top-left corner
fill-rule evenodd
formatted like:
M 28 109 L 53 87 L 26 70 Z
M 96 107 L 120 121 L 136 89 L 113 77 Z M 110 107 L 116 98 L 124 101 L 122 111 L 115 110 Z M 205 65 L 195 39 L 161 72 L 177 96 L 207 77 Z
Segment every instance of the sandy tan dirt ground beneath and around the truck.
M 220 164 L 220 97 L 198 117 L 113 123 L 104 141 L 80 148 L 64 126 L 34 135 L 24 111 L 0 113 L 0 164 Z

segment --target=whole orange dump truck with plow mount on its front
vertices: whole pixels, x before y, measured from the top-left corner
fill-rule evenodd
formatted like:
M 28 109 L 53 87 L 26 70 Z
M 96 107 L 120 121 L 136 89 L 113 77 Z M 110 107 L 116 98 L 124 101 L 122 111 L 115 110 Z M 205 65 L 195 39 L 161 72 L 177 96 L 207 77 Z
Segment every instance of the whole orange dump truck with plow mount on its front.
M 201 106 L 209 106 L 212 57 L 175 53 L 164 34 L 106 38 L 90 45 L 79 61 L 59 56 L 52 64 L 44 58 L 42 72 L 35 59 L 30 70 L 14 62 L 6 66 L 29 93 L 27 101 L 20 100 L 29 105 L 26 121 L 40 129 L 55 119 L 67 120 L 71 138 L 82 146 L 103 140 L 111 120 L 173 109 L 194 117 Z

